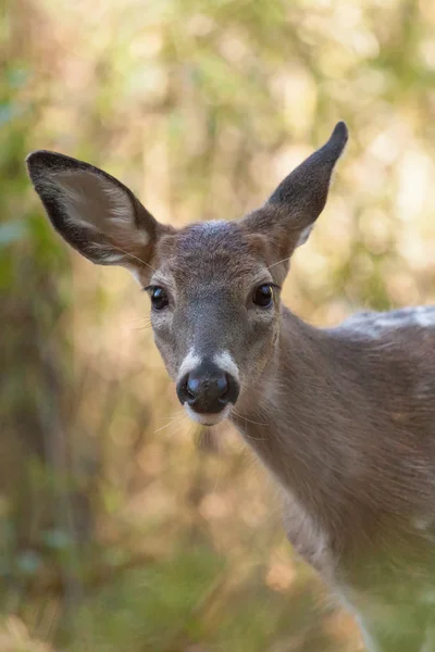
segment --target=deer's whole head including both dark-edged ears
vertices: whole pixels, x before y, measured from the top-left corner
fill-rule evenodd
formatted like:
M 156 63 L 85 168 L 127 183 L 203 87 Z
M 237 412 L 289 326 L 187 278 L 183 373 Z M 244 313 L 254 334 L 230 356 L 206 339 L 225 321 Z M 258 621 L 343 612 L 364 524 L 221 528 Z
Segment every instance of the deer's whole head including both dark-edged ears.
M 323 210 L 346 140 L 338 123 L 328 142 L 243 220 L 181 230 L 159 224 L 97 167 L 46 151 L 27 164 L 63 238 L 95 263 L 129 268 L 147 290 L 156 343 L 179 401 L 211 425 L 228 416 L 274 359 L 288 260 Z

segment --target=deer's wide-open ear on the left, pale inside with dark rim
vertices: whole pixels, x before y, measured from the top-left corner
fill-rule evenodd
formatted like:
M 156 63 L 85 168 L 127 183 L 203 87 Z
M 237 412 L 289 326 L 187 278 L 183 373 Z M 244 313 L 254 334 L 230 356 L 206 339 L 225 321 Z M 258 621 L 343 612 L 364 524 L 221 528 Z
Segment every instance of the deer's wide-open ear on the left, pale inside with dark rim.
M 39 150 L 28 174 L 57 231 L 100 265 L 149 265 L 160 225 L 121 181 L 94 165 Z

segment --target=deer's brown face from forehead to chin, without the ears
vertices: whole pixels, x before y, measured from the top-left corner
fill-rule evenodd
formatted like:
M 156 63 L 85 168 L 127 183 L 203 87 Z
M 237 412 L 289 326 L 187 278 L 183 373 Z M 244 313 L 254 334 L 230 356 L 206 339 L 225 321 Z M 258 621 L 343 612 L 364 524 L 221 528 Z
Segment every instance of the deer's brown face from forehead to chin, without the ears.
M 233 222 L 162 239 L 147 291 L 156 343 L 189 415 L 211 424 L 256 383 L 278 333 L 279 285 L 265 238 Z

